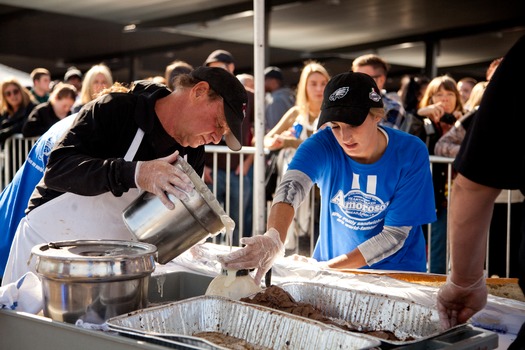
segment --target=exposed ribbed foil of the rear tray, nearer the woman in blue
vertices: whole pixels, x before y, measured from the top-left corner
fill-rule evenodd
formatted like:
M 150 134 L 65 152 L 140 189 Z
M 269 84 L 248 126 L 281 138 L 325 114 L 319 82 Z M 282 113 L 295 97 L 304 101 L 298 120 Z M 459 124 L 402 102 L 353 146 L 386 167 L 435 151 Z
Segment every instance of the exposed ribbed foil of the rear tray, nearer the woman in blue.
M 295 301 L 313 305 L 325 316 L 364 329 L 391 331 L 401 340 L 382 340 L 404 345 L 443 333 L 437 309 L 400 297 L 369 293 L 318 283 L 278 284 Z

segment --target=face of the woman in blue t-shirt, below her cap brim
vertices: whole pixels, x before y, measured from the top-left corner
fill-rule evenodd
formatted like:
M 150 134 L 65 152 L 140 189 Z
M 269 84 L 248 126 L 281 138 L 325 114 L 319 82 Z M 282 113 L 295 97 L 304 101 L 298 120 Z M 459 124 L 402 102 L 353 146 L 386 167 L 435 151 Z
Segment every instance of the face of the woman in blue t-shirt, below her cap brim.
M 375 161 L 371 158 L 378 149 L 377 123 L 379 119 L 369 114 L 359 126 L 332 122 L 332 132 L 346 154 L 355 161 L 369 163 Z

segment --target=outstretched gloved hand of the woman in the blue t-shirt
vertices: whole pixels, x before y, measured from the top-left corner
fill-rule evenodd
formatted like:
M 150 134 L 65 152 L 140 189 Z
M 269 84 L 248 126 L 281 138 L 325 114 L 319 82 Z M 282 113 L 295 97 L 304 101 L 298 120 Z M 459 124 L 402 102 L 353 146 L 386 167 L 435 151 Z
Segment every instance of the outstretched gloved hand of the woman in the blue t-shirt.
M 244 237 L 240 240 L 246 246 L 228 255 L 219 256 L 218 260 L 225 269 L 250 270 L 257 269 L 255 283 L 261 284 L 261 279 L 272 267 L 275 259 L 284 256 L 284 244 L 279 232 L 270 228 L 264 235 Z

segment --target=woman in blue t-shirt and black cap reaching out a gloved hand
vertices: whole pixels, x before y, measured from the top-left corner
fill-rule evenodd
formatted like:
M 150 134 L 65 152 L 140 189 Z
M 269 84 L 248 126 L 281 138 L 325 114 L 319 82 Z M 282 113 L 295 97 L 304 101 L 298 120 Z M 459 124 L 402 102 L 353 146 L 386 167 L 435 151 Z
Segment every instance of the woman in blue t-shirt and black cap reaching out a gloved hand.
M 320 234 L 313 258 L 330 268 L 426 271 L 421 225 L 436 220 L 428 151 L 417 137 L 379 126 L 381 94 L 364 73 L 333 77 L 319 127 L 298 148 L 280 183 L 264 235 L 220 257 L 225 268 L 257 268 L 256 282 L 284 255 L 295 210 L 316 183 Z

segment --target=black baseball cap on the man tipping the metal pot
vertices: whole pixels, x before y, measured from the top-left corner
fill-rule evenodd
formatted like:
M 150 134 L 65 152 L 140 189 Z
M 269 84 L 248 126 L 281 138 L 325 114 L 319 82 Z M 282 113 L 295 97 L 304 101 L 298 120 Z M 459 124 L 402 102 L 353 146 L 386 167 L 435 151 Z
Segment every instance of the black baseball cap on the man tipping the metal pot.
M 246 89 L 233 74 L 219 67 L 198 67 L 191 76 L 210 84 L 213 91 L 224 100 L 224 114 L 231 133 L 225 136 L 225 141 L 232 151 L 242 147 L 242 121 L 246 115 L 248 97 Z

